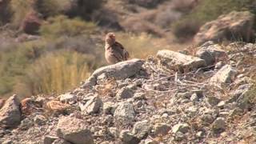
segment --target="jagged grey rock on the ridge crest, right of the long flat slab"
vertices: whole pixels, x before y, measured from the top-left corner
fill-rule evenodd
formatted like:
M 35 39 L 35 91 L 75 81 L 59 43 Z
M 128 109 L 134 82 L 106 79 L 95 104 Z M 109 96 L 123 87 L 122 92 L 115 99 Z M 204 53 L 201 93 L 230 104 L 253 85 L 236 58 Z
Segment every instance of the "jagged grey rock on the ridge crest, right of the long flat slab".
M 222 46 L 218 44 L 213 44 L 210 46 L 202 45 L 198 49 L 199 50 L 196 52 L 196 56 L 205 60 L 207 66 L 213 65 L 214 62 L 218 62 L 220 60 L 224 60 L 224 58 L 227 58 L 226 52 L 222 50 Z

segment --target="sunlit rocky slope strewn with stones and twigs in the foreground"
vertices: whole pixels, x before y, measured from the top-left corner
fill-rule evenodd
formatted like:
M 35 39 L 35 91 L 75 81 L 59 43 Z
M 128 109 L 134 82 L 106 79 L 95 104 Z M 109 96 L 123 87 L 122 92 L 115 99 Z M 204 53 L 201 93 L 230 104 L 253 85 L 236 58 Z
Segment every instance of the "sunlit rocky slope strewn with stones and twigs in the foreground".
M 95 70 L 58 96 L 0 100 L 0 143 L 254 143 L 256 45 L 206 42 Z

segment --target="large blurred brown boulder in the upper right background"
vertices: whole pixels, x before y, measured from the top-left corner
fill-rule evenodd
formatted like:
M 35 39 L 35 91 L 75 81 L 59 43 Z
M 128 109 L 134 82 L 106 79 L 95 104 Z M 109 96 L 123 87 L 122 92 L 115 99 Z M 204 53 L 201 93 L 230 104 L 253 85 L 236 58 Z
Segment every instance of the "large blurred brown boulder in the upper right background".
M 233 11 L 203 25 L 194 41 L 200 45 L 207 41 L 219 42 L 223 39 L 250 41 L 253 36 L 254 14 L 248 11 Z

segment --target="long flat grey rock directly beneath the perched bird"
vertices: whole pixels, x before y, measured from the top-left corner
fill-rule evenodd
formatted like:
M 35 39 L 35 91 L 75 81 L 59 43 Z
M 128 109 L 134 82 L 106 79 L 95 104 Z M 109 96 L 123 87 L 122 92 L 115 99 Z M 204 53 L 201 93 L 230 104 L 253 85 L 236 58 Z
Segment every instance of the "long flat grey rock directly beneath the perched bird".
M 124 78 L 129 78 L 142 70 L 142 65 L 144 61 L 141 59 L 131 59 L 125 62 L 118 62 L 114 65 L 104 66 L 95 70 L 94 73 L 86 80 L 82 85 L 83 88 L 95 86 L 97 84 L 99 76 L 104 75 L 104 78 L 114 78 L 115 80 L 120 80 Z

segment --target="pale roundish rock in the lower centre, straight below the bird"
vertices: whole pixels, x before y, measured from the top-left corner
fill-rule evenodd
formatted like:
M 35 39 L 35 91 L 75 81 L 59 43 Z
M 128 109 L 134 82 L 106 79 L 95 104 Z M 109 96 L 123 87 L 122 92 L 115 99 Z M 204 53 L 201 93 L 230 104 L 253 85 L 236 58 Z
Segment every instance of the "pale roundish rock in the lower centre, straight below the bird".
M 133 122 L 135 118 L 134 107 L 129 102 L 121 102 L 114 111 L 114 118 L 118 122 L 126 124 Z

